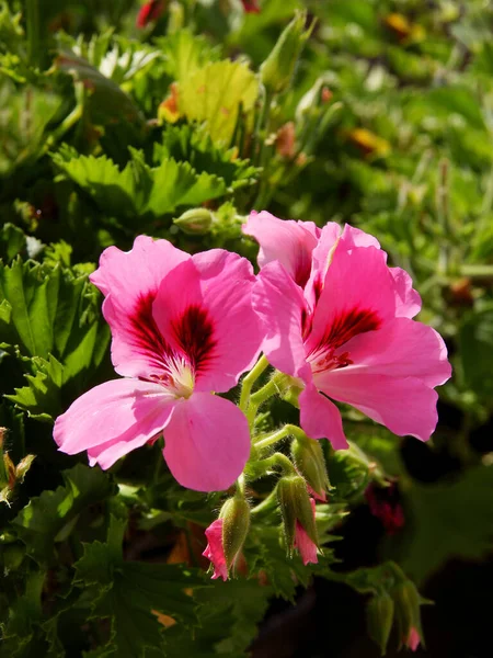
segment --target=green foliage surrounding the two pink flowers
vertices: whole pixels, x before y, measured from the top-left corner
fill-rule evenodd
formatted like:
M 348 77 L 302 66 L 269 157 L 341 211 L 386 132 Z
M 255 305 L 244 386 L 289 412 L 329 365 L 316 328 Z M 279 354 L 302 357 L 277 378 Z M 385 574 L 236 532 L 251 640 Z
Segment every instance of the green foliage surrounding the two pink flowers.
M 296 602 L 313 577 L 368 598 L 383 651 L 420 628 L 424 600 L 399 564 L 425 587 L 491 545 L 493 10 L 175 0 L 137 29 L 142 4 L 0 1 L 0 655 L 241 658 L 272 599 Z M 280 60 L 303 9 L 317 26 L 306 39 L 299 15 Z M 88 280 L 103 249 L 144 232 L 253 261 L 241 231 L 252 208 L 375 234 L 412 274 L 419 319 L 444 336 L 455 375 L 428 446 L 342 406 L 349 450 L 320 444 L 331 489 L 317 502 L 318 565 L 287 557 L 276 467 L 246 474 L 260 507 L 222 582 L 204 578 L 200 554 L 223 494 L 177 485 L 162 440 L 111 475 L 78 464 L 57 451 L 53 421 L 114 376 Z M 298 421 L 286 400 L 262 411 L 262 432 Z M 371 506 L 346 533 L 347 515 L 374 483 L 405 522 L 354 549 Z M 346 571 L 347 554 L 360 568 Z

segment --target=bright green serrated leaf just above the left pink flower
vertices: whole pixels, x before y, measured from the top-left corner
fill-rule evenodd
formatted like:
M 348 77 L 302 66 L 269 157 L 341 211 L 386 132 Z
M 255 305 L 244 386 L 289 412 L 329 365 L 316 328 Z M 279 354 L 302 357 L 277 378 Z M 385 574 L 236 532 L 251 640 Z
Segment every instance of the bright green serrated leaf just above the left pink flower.
M 222 179 L 197 173 L 188 162 L 167 158 L 151 168 L 135 149 L 123 171 L 105 156 L 72 157 L 65 150 L 56 154 L 54 161 L 104 213 L 127 223 L 157 219 L 177 206 L 199 205 L 227 191 Z

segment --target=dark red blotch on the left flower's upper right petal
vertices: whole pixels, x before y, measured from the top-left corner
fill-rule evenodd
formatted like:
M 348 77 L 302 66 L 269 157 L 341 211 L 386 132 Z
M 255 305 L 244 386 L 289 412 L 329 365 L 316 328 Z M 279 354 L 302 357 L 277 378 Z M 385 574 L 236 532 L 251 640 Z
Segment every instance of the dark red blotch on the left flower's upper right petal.
M 214 325 L 204 308 L 188 306 L 184 314 L 173 322 L 176 342 L 183 350 L 195 374 L 207 368 L 214 358 L 216 347 Z

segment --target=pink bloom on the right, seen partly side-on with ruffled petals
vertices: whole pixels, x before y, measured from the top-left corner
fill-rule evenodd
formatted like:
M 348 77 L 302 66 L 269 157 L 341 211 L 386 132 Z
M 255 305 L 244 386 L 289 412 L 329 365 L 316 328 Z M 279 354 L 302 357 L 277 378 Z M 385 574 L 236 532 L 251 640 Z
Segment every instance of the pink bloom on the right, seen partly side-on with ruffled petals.
M 263 351 L 302 389 L 305 432 L 347 446 L 333 398 L 426 441 L 437 422 L 434 387 L 450 365 L 440 336 L 412 319 L 421 299 L 409 274 L 389 268 L 377 240 L 348 225 L 319 229 L 263 212 L 243 230 L 261 246 L 253 306 Z

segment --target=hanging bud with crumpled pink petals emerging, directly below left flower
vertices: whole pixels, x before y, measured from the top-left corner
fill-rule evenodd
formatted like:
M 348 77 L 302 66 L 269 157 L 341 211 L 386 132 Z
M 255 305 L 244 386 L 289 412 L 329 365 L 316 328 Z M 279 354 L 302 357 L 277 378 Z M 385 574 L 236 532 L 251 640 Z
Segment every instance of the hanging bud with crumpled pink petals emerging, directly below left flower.
M 230 498 L 205 531 L 208 544 L 203 555 L 214 566 L 213 579 L 228 579 L 228 572 L 240 553 L 250 526 L 250 506 L 244 498 Z

